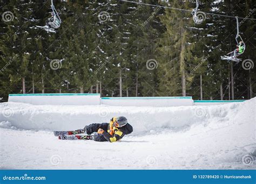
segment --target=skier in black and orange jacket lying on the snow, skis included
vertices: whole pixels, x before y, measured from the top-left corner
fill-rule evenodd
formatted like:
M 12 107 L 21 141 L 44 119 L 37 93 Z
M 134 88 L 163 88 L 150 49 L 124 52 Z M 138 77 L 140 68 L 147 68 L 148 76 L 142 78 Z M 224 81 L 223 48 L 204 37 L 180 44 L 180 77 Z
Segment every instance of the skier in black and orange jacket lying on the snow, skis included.
M 95 141 L 110 141 L 115 142 L 122 139 L 125 135 L 130 134 L 133 131 L 132 126 L 127 123 L 127 119 L 124 116 L 113 117 L 110 123 L 93 123 L 86 125 L 84 129 L 75 131 L 54 131 L 55 136 L 59 136 L 59 139 L 92 139 Z M 96 135 L 91 133 L 97 132 Z M 76 134 L 87 133 L 89 136 L 78 136 Z M 76 135 L 76 136 L 70 136 Z

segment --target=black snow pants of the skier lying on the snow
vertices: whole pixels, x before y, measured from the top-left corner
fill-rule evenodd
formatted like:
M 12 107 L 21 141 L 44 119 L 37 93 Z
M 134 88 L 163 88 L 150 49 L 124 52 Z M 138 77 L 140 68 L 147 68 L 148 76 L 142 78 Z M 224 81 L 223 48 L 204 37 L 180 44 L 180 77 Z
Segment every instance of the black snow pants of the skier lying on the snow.
M 109 123 L 92 123 L 90 125 L 86 125 L 85 126 L 85 131 L 87 134 L 91 134 L 93 132 L 97 132 L 98 129 L 103 129 L 104 131 L 107 132 L 107 129 L 108 129 L 108 126 L 109 126 Z M 100 134 L 100 133 L 97 133 L 93 140 L 95 141 L 100 141 L 100 142 L 103 142 L 103 141 L 107 141 L 107 139 L 105 139 L 105 137 L 103 136 L 103 134 Z

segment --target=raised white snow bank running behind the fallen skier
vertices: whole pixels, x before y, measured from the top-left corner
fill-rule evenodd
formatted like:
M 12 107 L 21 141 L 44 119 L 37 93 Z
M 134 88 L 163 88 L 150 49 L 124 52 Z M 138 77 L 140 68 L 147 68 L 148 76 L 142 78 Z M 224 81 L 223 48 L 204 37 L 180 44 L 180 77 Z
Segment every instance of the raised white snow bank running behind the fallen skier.
M 211 127 L 230 123 L 255 123 L 256 98 L 250 101 L 202 107 L 113 107 L 106 105 L 31 105 L 0 104 L 0 122 L 25 130 L 75 130 L 91 123 L 109 122 L 113 116 L 125 116 L 133 126 L 133 135 L 163 130 L 179 131 L 211 123 Z M 223 123 L 225 122 L 225 124 Z

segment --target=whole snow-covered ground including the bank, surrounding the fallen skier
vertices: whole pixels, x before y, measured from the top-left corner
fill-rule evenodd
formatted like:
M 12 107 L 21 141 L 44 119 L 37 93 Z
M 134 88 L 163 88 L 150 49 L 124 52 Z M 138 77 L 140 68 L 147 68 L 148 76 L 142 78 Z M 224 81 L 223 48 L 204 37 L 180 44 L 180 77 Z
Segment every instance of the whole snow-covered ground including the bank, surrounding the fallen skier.
M 58 140 L 126 116 L 134 132 L 117 143 Z M 256 98 L 191 107 L 0 104 L 2 169 L 255 169 Z M 251 163 L 253 162 L 253 163 Z

